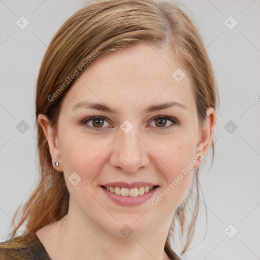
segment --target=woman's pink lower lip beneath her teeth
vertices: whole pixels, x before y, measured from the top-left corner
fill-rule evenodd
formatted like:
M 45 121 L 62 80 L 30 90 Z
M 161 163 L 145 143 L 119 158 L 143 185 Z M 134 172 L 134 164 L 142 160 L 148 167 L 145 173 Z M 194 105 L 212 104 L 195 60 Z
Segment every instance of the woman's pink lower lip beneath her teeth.
M 140 205 L 146 201 L 148 201 L 153 193 L 157 190 L 158 186 L 151 189 L 150 191 L 148 191 L 147 193 L 144 193 L 141 196 L 137 196 L 137 197 L 129 197 L 129 196 L 121 196 L 121 195 L 116 195 L 115 193 L 112 193 L 110 191 L 108 191 L 107 189 L 104 189 L 102 187 L 100 187 L 108 196 L 108 198 L 121 205 L 121 206 L 137 206 Z

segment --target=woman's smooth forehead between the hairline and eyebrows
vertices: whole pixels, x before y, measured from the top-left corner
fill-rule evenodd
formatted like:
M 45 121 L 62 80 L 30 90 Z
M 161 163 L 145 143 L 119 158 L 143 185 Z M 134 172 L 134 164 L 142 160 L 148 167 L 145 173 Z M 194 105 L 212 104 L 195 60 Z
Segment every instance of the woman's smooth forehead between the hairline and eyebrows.
M 179 81 L 176 74 L 186 76 Z M 86 100 L 113 108 L 153 101 L 195 104 L 188 71 L 168 48 L 146 43 L 106 54 L 90 64 L 63 99 L 67 109 Z

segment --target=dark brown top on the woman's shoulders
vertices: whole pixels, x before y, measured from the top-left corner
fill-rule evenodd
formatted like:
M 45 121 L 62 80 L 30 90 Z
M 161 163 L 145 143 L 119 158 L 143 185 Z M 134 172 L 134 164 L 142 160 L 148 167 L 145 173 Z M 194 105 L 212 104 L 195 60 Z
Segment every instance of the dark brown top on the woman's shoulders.
M 14 245 L 14 242 L 18 243 Z M 171 260 L 181 260 L 174 252 L 167 252 Z M 0 243 L 0 260 L 51 260 L 35 232 L 24 238 L 15 237 Z

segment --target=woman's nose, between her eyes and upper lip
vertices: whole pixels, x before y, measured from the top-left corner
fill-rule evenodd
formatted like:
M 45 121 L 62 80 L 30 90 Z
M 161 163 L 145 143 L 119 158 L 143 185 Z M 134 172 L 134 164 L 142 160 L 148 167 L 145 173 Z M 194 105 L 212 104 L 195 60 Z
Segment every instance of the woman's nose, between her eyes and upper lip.
M 149 165 L 149 148 L 140 133 L 135 131 L 135 127 L 128 134 L 119 129 L 119 136 L 114 140 L 110 164 L 126 173 L 135 173 Z

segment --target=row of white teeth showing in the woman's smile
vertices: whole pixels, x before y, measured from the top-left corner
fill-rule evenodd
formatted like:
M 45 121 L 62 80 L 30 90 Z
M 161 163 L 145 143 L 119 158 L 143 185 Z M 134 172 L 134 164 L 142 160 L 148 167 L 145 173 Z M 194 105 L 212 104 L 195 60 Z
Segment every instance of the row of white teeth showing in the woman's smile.
M 149 192 L 151 189 L 153 189 L 153 186 L 145 186 L 145 187 L 136 187 L 136 188 L 120 188 L 120 187 L 107 187 L 105 188 L 112 192 L 115 193 L 116 195 L 121 195 L 123 197 L 137 197 L 141 196 L 144 193 Z

